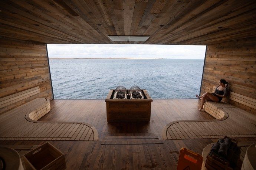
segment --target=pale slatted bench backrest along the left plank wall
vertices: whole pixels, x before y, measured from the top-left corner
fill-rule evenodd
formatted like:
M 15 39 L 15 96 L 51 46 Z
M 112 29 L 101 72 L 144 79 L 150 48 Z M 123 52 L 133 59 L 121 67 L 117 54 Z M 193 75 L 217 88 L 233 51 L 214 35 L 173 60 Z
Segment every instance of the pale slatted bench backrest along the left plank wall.
M 7 106 L 20 102 L 26 98 L 36 95 L 37 93 L 40 93 L 39 86 L 0 98 L 0 113 L 3 113 L 4 111 L 7 111 L 13 108 L 13 106 L 12 107 L 7 107 Z

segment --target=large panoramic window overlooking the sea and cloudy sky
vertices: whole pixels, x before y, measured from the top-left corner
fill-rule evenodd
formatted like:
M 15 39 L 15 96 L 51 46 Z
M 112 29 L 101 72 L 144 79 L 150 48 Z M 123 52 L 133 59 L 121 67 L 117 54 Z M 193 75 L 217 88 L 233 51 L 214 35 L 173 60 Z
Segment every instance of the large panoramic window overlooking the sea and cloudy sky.
M 55 99 L 104 99 L 118 85 L 138 85 L 154 99 L 194 98 L 200 91 L 206 50 L 196 45 L 124 44 L 47 48 Z

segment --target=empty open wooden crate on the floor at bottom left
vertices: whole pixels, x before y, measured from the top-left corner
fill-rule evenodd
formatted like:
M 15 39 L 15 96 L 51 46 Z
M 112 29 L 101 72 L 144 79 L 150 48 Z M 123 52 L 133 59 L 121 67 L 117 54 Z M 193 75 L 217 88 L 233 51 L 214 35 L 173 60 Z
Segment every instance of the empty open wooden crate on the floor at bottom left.
M 48 142 L 24 154 L 23 158 L 27 170 L 66 169 L 64 154 Z

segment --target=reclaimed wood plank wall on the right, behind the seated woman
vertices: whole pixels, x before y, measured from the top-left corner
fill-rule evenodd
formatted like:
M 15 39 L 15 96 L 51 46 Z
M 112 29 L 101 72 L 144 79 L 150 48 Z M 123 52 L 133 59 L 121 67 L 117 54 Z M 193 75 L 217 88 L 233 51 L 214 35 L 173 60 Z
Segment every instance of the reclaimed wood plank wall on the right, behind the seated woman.
M 208 45 L 201 94 L 211 92 L 223 78 L 230 91 L 256 99 L 256 38 Z M 256 110 L 225 99 L 239 108 L 256 114 Z

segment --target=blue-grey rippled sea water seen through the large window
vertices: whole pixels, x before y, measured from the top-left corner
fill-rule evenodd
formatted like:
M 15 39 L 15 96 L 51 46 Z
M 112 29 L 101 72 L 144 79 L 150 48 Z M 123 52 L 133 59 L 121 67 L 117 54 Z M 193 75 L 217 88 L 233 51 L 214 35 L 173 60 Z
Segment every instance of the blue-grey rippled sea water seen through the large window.
M 195 98 L 203 59 L 49 59 L 55 99 L 105 99 L 138 85 L 153 99 Z

